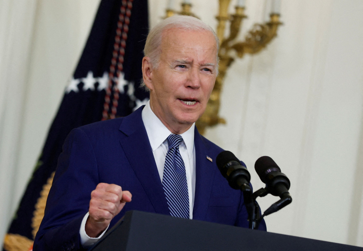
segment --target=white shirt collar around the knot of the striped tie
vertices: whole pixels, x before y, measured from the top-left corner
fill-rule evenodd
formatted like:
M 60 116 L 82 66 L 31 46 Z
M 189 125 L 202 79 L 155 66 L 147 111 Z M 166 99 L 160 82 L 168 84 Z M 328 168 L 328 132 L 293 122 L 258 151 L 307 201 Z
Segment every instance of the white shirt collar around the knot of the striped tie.
M 156 117 L 155 113 L 151 110 L 150 100 L 146 103 L 141 113 L 142 121 L 146 129 L 147 136 L 150 141 L 152 151 L 155 151 L 166 138 L 171 134 L 171 131 Z M 189 158 L 193 155 L 194 148 L 194 127 L 195 123 L 184 133 L 180 134 L 183 138 L 185 146 L 189 154 Z

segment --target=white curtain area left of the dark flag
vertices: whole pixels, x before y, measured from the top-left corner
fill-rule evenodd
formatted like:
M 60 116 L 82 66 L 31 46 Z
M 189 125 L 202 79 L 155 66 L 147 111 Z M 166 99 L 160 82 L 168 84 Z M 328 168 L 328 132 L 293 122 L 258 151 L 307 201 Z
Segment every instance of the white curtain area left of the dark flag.
M 99 0 L 0 0 L 0 238 L 72 76 Z

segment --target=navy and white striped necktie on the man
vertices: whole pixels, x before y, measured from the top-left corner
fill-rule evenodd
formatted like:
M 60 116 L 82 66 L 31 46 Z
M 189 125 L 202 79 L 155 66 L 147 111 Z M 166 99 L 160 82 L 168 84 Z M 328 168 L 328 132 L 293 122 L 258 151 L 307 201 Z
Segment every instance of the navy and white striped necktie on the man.
M 163 188 L 171 216 L 189 218 L 189 196 L 185 166 L 179 152 L 183 138 L 170 134 L 168 152 L 165 157 Z

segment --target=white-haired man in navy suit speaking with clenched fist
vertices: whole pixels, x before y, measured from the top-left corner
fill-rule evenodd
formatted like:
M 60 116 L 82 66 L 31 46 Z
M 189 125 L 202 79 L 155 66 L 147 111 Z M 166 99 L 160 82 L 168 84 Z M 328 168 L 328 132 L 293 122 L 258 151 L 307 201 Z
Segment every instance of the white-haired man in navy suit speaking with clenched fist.
M 35 250 L 90 247 L 134 209 L 248 227 L 242 193 L 215 164 L 223 149 L 195 128 L 218 74 L 217 51 L 213 29 L 193 17 L 167 18 L 150 31 L 142 62 L 150 102 L 72 130 Z

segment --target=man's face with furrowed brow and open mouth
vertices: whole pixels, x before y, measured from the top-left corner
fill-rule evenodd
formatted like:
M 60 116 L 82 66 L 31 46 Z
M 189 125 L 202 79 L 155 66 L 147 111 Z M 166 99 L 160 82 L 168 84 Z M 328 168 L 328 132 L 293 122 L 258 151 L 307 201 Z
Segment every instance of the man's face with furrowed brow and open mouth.
M 169 29 L 160 48 L 159 67 L 150 67 L 144 81 L 153 112 L 172 133 L 180 134 L 207 106 L 216 80 L 216 40 L 207 31 Z

